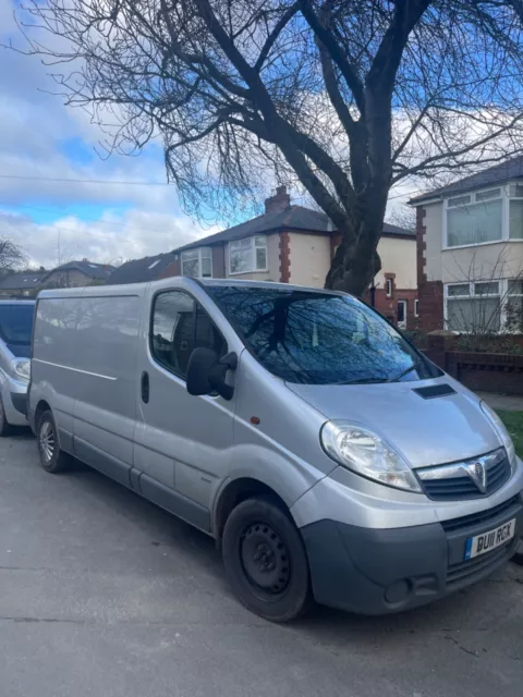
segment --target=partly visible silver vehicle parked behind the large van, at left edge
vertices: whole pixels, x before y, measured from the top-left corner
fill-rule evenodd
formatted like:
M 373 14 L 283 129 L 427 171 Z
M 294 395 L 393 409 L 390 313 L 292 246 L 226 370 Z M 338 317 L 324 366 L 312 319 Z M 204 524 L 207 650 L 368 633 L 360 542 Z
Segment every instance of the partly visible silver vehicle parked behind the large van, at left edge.
M 0 437 L 27 426 L 35 301 L 0 301 Z

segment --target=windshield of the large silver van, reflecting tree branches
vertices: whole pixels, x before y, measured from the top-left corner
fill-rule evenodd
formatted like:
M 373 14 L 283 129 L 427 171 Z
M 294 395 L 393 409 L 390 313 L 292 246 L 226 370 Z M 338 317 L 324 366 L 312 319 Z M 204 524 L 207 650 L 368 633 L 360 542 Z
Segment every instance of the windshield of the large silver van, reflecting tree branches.
M 442 375 L 346 295 L 215 285 L 209 293 L 267 370 L 288 382 L 355 384 Z

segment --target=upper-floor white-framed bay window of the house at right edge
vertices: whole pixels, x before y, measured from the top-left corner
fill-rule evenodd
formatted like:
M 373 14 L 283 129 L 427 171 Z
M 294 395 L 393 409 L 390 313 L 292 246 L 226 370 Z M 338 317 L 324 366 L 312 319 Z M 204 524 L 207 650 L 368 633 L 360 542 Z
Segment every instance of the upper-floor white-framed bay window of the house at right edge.
M 523 240 L 523 185 L 471 192 L 445 201 L 446 248 Z

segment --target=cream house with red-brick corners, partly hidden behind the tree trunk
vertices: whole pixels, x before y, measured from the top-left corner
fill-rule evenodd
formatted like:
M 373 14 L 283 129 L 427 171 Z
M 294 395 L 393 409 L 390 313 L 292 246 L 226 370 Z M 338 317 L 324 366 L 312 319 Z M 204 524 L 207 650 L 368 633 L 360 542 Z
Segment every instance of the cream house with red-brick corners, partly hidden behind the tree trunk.
M 291 205 L 284 186 L 265 213 L 172 250 L 173 274 L 280 281 L 323 288 L 340 243 L 327 216 Z M 415 232 L 385 223 L 378 245 L 382 269 L 367 302 L 401 327 L 417 325 Z

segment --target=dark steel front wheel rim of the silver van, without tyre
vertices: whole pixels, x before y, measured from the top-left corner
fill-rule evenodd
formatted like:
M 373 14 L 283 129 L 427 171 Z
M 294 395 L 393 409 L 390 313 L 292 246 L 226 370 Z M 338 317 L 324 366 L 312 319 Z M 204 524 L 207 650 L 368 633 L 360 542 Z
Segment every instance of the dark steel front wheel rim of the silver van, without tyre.
M 291 578 L 289 551 L 270 525 L 255 523 L 245 528 L 240 553 L 252 585 L 270 595 L 285 590 Z

